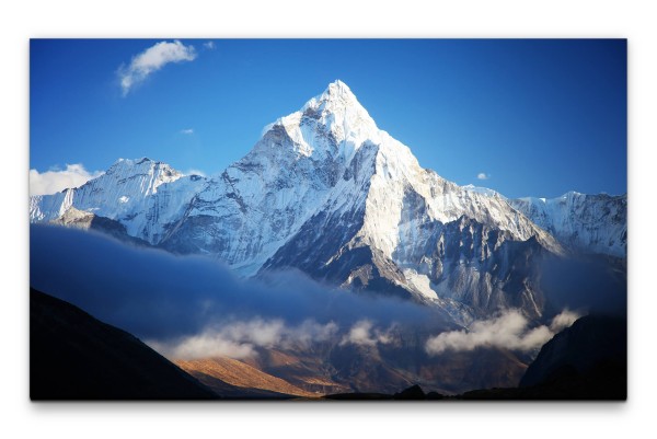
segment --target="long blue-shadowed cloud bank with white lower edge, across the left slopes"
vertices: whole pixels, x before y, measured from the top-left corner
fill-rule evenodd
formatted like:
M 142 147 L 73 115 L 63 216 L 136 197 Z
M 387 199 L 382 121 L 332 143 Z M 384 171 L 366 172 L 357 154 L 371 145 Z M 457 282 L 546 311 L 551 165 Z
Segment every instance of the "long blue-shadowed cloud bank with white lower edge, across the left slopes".
M 439 310 L 355 294 L 298 272 L 241 279 L 216 259 L 137 249 L 104 235 L 31 226 L 33 288 L 118 326 L 170 358 L 254 356 L 258 348 L 389 344 L 392 328 L 456 327 Z

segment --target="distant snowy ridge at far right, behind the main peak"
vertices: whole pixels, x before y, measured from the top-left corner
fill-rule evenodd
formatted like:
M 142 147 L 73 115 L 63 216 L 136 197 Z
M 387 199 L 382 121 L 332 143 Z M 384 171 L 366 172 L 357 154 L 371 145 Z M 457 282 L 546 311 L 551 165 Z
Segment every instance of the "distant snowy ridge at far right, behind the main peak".
M 509 204 L 564 246 L 627 256 L 627 196 L 568 192 L 557 198 L 517 198 Z

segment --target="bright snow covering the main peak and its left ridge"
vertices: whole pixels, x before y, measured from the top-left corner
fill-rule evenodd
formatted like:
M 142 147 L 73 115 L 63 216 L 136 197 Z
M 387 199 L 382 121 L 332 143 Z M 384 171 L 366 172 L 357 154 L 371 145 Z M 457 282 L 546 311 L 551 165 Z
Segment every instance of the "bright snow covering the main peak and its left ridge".
M 405 218 L 410 193 L 417 194 L 422 208 Z M 405 247 L 426 240 L 425 224 L 461 217 L 506 231 L 509 239 L 537 236 L 561 251 L 495 190 L 461 187 L 423 169 L 339 80 L 300 111 L 265 126 L 252 151 L 221 175 L 184 176 L 146 158 L 119 159 L 80 188 L 31 197 L 30 218 L 50 221 L 71 206 L 115 219 L 152 244 L 215 255 L 243 276 L 257 273 L 320 213 L 350 218 L 364 210 L 355 240 L 399 264 Z M 404 269 L 420 294 L 437 297 L 419 267 Z

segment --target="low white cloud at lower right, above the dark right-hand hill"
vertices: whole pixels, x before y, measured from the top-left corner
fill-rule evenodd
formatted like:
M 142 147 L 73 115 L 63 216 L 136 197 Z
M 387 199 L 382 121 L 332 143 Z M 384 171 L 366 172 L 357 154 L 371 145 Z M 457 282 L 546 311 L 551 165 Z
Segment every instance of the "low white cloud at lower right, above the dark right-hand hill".
M 429 355 L 447 350 L 474 350 L 479 347 L 497 347 L 529 351 L 540 348 L 554 334 L 569 326 L 579 315 L 565 310 L 550 325 L 529 327 L 529 321 L 518 311 L 509 311 L 499 317 L 474 322 L 470 331 L 451 331 L 430 337 L 425 348 Z

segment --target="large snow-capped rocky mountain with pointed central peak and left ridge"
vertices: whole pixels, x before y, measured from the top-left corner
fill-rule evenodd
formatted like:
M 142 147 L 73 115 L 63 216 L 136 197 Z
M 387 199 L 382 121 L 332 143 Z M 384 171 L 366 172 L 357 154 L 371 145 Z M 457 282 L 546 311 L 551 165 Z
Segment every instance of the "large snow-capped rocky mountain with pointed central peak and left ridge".
M 242 276 L 300 269 L 437 307 L 461 324 L 508 308 L 532 319 L 558 308 L 541 267 L 566 253 L 549 229 L 497 193 L 423 169 L 342 81 L 265 127 L 219 176 L 119 160 L 79 188 L 32 197 L 30 217 L 58 221 L 71 207 Z

